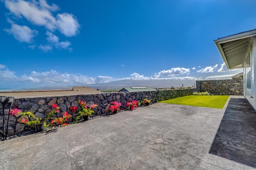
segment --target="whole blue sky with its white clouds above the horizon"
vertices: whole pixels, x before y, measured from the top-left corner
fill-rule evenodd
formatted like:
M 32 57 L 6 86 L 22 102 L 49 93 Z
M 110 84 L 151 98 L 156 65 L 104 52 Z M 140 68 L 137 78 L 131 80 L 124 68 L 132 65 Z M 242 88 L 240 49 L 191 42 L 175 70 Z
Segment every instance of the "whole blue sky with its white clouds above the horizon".
M 255 0 L 0 0 L 0 88 L 228 79 L 213 40 L 256 29 Z

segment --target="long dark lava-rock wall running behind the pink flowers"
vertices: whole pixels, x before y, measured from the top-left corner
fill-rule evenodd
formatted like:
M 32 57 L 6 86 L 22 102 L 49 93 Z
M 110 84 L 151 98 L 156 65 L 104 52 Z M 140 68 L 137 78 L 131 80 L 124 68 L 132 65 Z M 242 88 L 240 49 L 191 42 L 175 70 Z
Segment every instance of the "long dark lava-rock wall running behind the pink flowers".
M 30 111 L 35 114 L 36 117 L 44 120 L 45 116 L 51 111 L 52 104 L 58 104 L 60 106 L 60 113 L 55 115 L 60 117 L 64 111 L 68 111 L 72 115 L 72 119 L 76 118 L 76 113 L 69 111 L 70 106 L 78 106 L 77 100 L 84 100 L 88 106 L 92 104 L 98 104 L 98 107 L 94 108 L 94 114 L 92 117 L 106 115 L 109 113 L 108 107 L 113 101 L 120 102 L 122 106 L 121 110 L 126 110 L 126 103 L 132 100 L 140 102 L 144 98 L 152 99 L 151 104 L 169 100 L 172 98 L 178 98 L 181 96 L 188 96 L 194 92 L 195 89 L 179 89 L 179 90 L 160 90 L 150 92 L 116 92 L 116 93 L 102 93 L 102 94 L 87 94 L 76 96 L 48 96 L 48 97 L 34 97 L 34 98 L 15 98 L 15 102 L 12 108 L 18 108 L 21 112 Z M 6 105 L 5 108 L 8 108 Z M 79 109 L 79 106 L 78 106 Z M 2 105 L 0 105 L 2 110 Z M 9 109 L 5 109 L 5 118 L 8 118 Z M 10 117 L 10 125 L 8 129 L 8 135 L 14 135 L 22 131 L 31 130 L 30 127 L 23 123 L 19 123 L 18 119 L 21 119 L 21 114 L 16 114 Z M 0 133 L 2 133 L 2 117 L 0 117 Z

